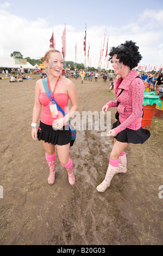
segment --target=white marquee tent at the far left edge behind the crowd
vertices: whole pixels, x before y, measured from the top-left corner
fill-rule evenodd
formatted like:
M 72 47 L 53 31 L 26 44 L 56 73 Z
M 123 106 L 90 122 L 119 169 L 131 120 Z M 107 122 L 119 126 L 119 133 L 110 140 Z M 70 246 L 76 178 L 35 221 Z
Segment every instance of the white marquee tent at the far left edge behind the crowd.
M 0 68 L 17 69 L 20 68 L 20 66 L 22 66 L 23 69 L 35 69 L 27 60 L 0 57 Z

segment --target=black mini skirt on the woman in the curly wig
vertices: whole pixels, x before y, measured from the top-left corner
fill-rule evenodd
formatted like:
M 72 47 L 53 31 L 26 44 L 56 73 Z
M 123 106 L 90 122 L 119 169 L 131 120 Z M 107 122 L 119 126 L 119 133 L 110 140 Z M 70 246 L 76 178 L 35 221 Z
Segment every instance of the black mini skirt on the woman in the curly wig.
M 117 120 L 112 125 L 112 129 L 116 128 L 120 124 L 120 120 Z M 137 131 L 126 128 L 125 130 L 119 132 L 114 138 L 119 142 L 143 144 L 150 136 L 151 133 L 148 130 L 142 129 L 142 127 L 140 127 L 140 129 Z

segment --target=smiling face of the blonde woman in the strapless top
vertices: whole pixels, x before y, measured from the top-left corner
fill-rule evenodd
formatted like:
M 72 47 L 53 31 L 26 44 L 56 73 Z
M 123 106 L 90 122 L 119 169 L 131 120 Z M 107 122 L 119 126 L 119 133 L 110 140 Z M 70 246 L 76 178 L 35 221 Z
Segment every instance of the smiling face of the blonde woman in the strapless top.
M 48 62 L 45 61 L 45 66 L 48 70 L 48 75 L 59 77 L 64 68 L 64 60 L 61 53 L 49 52 Z

